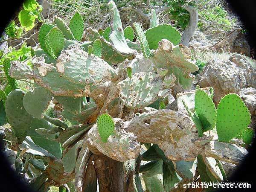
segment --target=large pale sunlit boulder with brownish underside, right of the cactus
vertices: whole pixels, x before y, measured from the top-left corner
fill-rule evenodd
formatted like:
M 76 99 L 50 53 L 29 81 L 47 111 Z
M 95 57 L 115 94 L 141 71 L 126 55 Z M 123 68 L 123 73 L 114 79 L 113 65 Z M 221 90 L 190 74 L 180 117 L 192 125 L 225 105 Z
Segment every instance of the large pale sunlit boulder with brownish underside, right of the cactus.
M 233 54 L 229 60 L 215 58 L 208 62 L 198 75 L 200 87 L 213 87 L 213 101 L 218 104 L 228 93 L 239 93 L 244 87 L 253 85 L 256 77 L 249 62 L 239 54 Z

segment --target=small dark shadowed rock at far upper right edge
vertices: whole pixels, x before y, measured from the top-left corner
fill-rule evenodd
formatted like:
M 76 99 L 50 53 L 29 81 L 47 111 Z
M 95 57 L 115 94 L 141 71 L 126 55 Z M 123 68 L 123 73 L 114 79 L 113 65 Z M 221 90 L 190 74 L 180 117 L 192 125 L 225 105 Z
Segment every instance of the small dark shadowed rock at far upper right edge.
M 250 45 L 244 34 L 239 33 L 234 41 L 233 52 L 250 56 Z

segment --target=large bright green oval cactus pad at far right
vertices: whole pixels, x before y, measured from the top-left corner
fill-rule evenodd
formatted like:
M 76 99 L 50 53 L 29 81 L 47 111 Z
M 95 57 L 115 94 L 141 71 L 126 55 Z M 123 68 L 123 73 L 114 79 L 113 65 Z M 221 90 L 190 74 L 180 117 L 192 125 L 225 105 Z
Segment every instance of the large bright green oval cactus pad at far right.
M 224 96 L 218 104 L 216 129 L 218 140 L 229 142 L 250 124 L 250 113 L 236 94 Z

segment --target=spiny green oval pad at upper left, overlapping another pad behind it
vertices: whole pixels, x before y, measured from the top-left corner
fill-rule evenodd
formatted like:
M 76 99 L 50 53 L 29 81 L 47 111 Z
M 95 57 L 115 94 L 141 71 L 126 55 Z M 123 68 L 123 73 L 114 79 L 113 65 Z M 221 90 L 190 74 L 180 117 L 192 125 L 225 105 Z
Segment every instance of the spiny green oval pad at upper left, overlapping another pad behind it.
M 64 35 L 61 30 L 57 27 L 52 28 L 46 35 L 45 44 L 49 55 L 52 56 L 53 53 L 53 58 L 57 58 L 61 54 L 65 44 Z

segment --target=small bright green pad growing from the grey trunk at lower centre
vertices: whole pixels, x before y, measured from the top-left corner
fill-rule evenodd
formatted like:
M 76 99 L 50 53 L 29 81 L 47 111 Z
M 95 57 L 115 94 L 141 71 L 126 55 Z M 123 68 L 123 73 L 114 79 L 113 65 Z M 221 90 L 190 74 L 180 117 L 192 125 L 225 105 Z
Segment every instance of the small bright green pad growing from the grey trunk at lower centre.
M 102 114 L 97 119 L 97 127 L 102 141 L 107 143 L 108 137 L 113 133 L 115 128 L 112 117 L 107 113 Z

